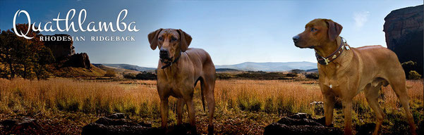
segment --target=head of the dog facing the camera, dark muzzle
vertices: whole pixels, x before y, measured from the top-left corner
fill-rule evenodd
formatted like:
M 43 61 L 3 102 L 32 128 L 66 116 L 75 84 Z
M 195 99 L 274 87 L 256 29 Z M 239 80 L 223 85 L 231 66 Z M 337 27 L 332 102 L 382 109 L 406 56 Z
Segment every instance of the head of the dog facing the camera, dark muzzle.
M 186 51 L 191 43 L 191 36 L 183 30 L 159 29 L 150 32 L 148 35 L 150 48 L 155 50 L 159 46 L 159 58 L 164 62 L 173 62 L 180 55 L 181 51 Z

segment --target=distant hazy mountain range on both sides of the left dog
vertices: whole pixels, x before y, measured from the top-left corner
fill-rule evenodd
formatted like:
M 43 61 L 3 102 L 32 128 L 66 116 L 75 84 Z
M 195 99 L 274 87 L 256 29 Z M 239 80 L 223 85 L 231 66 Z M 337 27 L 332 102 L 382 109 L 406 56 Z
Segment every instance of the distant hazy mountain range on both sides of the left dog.
M 146 68 L 140 67 L 138 65 L 129 65 L 129 64 L 107 64 L 107 63 L 93 63 L 99 67 L 99 65 L 106 65 L 113 68 L 123 68 L 126 70 L 136 70 L 136 71 L 152 71 L 156 70 L 156 68 Z M 311 70 L 317 68 L 317 63 L 311 62 L 287 62 L 287 63 L 253 63 L 246 62 L 235 65 L 215 65 L 217 68 L 217 72 L 224 71 L 266 71 L 266 72 L 277 72 L 277 71 L 288 71 L 294 69 L 300 70 Z

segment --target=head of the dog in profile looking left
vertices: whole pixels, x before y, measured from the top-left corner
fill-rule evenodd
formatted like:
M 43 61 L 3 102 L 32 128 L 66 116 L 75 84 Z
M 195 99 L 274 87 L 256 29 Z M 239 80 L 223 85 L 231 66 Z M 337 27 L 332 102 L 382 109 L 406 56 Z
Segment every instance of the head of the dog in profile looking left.
M 294 45 L 303 49 L 313 49 L 322 43 L 334 41 L 341 32 L 341 25 L 329 19 L 311 20 L 305 25 L 305 31 L 293 37 Z

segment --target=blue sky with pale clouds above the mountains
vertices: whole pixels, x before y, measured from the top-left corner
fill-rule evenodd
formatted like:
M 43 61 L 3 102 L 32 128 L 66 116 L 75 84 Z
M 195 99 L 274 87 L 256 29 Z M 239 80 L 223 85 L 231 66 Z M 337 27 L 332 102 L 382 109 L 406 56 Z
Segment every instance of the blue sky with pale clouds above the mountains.
M 423 1 L 0 1 L 0 29 L 13 27 L 13 15 L 28 11 L 32 23 L 65 18 L 72 8 L 73 21 L 87 10 L 86 22 L 115 23 L 128 9 L 123 22 L 135 21 L 138 32 L 42 32 L 85 36 L 74 41 L 75 51 L 85 52 L 91 63 L 127 63 L 156 67 L 159 51 L 150 49 L 147 34 L 159 28 L 177 28 L 193 37 L 190 47 L 205 49 L 215 65 L 243 62 L 316 63 L 313 49 L 298 49 L 291 37 L 303 32 L 315 18 L 329 18 L 344 28 L 341 36 L 357 47 L 380 44 L 384 17 L 398 8 L 418 6 Z M 17 23 L 27 23 L 20 17 Z M 62 24 L 63 25 L 63 24 Z M 61 26 L 62 26 L 61 25 Z M 86 26 L 87 23 L 84 24 Z M 64 27 L 64 25 L 63 25 Z M 135 41 L 90 41 L 90 36 L 134 36 Z

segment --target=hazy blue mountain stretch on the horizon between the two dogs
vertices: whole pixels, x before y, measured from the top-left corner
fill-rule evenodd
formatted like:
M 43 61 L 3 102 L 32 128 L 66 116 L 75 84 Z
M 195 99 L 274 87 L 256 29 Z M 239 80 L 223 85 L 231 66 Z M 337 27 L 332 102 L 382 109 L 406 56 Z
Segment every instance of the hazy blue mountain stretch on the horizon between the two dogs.
M 287 71 L 287 70 L 310 70 L 317 68 L 317 63 L 311 62 L 287 62 L 287 63 L 253 63 L 246 62 L 235 65 L 215 65 L 215 68 L 231 68 L 235 70 L 244 70 L 244 71 Z

